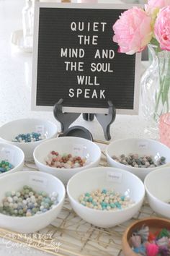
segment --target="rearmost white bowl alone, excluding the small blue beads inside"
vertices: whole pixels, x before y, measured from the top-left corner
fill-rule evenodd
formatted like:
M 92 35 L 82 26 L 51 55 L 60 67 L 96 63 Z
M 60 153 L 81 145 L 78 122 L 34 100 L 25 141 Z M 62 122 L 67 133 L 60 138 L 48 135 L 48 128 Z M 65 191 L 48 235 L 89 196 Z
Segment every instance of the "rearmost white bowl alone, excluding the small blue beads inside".
M 12 140 L 19 134 L 37 131 L 40 131 L 45 135 L 45 140 L 51 139 L 57 135 L 57 127 L 50 121 L 42 119 L 17 119 L 9 121 L 0 127 L 0 140 L 21 148 L 24 151 L 25 160 L 32 161 L 35 147 L 45 140 L 27 143 L 12 142 Z

